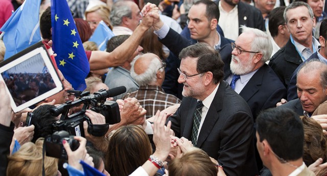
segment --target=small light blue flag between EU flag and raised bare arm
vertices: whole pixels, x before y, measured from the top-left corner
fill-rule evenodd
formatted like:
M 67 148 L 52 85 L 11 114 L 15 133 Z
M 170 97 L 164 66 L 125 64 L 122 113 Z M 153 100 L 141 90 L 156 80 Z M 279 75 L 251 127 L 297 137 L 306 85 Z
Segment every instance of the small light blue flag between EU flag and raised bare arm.
M 107 41 L 110 40 L 113 36 L 114 34 L 107 26 L 107 24 L 103 21 L 100 21 L 98 27 L 88 41 L 96 42 L 99 50 L 105 51 L 107 49 Z

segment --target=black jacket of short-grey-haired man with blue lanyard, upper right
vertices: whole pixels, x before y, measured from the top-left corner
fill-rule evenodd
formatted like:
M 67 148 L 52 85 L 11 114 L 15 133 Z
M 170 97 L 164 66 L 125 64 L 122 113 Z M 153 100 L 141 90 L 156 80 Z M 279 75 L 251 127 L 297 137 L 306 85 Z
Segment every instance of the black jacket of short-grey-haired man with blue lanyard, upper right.
M 301 56 L 289 40 L 283 48 L 271 57 L 269 66 L 287 87 L 293 72 L 302 62 Z

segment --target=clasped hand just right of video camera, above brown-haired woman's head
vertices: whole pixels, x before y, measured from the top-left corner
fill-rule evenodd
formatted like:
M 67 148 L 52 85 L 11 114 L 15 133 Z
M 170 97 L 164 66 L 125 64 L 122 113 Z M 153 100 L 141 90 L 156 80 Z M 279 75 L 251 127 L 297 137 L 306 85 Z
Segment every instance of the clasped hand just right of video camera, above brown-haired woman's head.
M 147 113 L 147 110 L 145 110 L 139 104 L 136 98 L 127 98 L 124 100 L 124 103 L 124 107 L 121 111 L 122 125 L 142 125 L 144 123 L 144 115 Z

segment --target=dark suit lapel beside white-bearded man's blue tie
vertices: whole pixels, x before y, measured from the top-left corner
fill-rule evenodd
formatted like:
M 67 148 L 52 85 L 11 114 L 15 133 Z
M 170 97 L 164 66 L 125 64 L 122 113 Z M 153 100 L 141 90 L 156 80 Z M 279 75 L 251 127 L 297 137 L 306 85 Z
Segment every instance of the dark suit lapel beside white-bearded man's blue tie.
M 262 85 L 266 64 L 262 66 L 254 75 L 250 78 L 249 82 L 244 86 L 240 92 L 240 96 L 247 102 L 256 92 L 259 91 Z

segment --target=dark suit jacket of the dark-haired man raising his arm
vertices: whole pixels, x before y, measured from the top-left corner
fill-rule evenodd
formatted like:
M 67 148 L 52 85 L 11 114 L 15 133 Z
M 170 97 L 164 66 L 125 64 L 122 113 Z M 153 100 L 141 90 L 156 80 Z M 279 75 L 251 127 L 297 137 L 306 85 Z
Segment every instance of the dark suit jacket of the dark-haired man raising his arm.
M 221 48 L 220 48 L 220 55 L 222 58 L 227 59 L 228 57 L 231 58 L 231 45 L 230 43 L 233 42 L 232 40 L 226 39 L 223 36 L 220 36 L 221 40 Z M 168 47 L 171 51 L 167 60 L 166 60 L 166 75 L 165 80 L 162 83 L 162 89 L 165 90 L 165 93 L 172 94 L 182 99 L 182 91 L 183 91 L 183 84 L 178 83 L 179 73 L 177 68 L 179 68 L 180 60 L 178 59 L 179 52 L 190 46 L 193 45 L 192 41 L 180 36 L 174 30 L 170 28 L 167 36 L 164 39 L 161 39 L 160 42 Z M 224 68 L 225 69 L 225 68 Z

